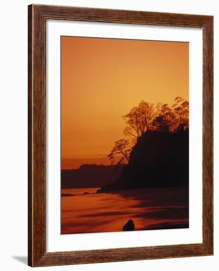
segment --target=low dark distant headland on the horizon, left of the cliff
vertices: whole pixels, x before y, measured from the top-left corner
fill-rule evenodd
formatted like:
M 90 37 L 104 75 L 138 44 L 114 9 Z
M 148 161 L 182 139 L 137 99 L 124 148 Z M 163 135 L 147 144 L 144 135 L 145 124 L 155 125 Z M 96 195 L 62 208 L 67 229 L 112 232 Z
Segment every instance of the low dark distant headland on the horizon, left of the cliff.
M 117 179 L 123 166 L 82 165 L 79 169 L 63 169 L 61 172 L 61 187 L 91 188 L 102 187 Z

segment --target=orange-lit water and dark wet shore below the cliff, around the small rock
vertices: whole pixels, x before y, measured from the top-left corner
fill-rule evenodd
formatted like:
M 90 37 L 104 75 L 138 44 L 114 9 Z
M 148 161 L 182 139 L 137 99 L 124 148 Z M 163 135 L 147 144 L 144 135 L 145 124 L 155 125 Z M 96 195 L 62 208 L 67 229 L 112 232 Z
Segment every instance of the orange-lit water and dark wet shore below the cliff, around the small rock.
M 62 234 L 120 232 L 129 219 L 135 230 L 188 228 L 187 189 L 96 194 L 97 189 L 62 189 L 75 195 L 62 197 Z

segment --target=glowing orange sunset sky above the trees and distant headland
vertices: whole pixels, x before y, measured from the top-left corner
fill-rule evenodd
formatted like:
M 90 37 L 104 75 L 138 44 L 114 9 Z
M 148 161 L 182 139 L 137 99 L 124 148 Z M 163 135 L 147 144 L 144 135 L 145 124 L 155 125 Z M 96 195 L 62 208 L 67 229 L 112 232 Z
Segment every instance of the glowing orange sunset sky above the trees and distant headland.
M 62 36 L 61 82 L 62 162 L 93 163 L 124 138 L 121 116 L 141 100 L 188 100 L 188 43 Z

